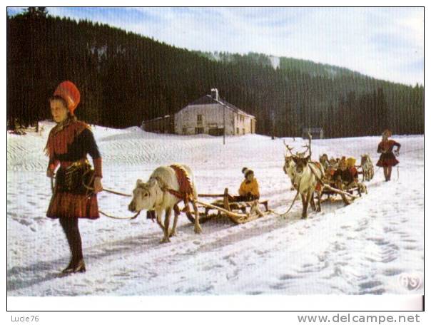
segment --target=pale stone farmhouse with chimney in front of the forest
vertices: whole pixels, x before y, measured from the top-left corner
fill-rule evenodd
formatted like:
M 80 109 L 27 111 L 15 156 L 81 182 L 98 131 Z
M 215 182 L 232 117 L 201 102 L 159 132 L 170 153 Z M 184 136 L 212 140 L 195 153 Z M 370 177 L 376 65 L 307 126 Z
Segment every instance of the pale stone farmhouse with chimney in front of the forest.
M 256 119 L 225 100 L 219 98 L 218 90 L 203 96 L 175 115 L 176 134 L 244 135 L 255 133 Z

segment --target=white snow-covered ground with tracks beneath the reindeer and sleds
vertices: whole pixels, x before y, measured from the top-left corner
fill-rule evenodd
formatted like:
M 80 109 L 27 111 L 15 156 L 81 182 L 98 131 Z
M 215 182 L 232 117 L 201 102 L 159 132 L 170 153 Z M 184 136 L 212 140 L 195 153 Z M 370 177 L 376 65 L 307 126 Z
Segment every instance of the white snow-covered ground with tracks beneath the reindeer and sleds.
M 40 134 L 7 135 L 7 289 L 9 296 L 183 294 L 422 294 L 402 279 L 423 279 L 424 137 L 395 136 L 402 144 L 400 175 L 367 182 L 368 195 L 344 207 L 300 219 L 296 202 L 286 217 L 268 215 L 244 225 L 215 219 L 203 233 L 181 216 L 178 236 L 160 244 L 159 227 L 146 220 L 101 216 L 80 221 L 87 272 L 59 277 L 69 248 L 58 220 L 45 217 L 51 196 L 43 149 L 52 123 Z M 158 165 L 183 162 L 199 192 L 235 192 L 250 167 L 270 208 L 285 212 L 295 196 L 283 173 L 282 139 L 261 135 L 221 138 L 146 133 L 139 128 L 95 127 L 103 155 L 103 185 L 131 192 Z M 286 139 L 298 150 L 303 140 Z M 313 158 L 370 153 L 380 138 L 313 140 Z M 106 192 L 99 208 L 131 215 L 129 199 Z M 405 283 L 404 283 L 405 284 Z

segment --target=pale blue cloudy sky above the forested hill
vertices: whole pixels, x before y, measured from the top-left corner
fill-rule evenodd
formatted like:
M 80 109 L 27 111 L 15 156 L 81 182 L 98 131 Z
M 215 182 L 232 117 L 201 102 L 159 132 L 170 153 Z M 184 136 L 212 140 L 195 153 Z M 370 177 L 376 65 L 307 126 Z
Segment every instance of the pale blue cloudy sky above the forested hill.
M 21 12 L 9 8 L 10 15 Z M 200 51 L 257 52 L 424 83 L 422 8 L 49 7 Z

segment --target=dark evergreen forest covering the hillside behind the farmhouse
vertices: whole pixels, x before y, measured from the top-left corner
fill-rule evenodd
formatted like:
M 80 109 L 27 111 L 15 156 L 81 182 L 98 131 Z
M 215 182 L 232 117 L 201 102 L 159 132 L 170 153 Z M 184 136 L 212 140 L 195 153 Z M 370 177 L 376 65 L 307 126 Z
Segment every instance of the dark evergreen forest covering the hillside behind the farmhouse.
M 81 90 L 76 114 L 123 128 L 176 113 L 218 88 L 256 116 L 257 132 L 327 137 L 424 133 L 424 88 L 380 81 L 345 68 L 293 58 L 273 67 L 258 53 L 201 53 L 90 21 L 29 8 L 7 19 L 8 128 L 50 117 L 58 83 Z

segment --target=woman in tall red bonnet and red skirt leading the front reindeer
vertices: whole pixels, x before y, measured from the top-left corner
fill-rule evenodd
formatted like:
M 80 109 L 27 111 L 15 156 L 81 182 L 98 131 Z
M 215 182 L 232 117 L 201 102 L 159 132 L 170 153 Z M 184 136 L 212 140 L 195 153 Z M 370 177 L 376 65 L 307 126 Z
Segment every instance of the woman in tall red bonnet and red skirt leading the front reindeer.
M 97 219 L 97 192 L 101 192 L 102 160 L 93 133 L 74 115 L 80 100 L 78 88 L 71 81 L 57 86 L 50 98 L 51 114 L 56 126 L 49 133 L 46 175 L 56 178 L 46 216 L 59 218 L 71 250 L 71 261 L 63 273 L 85 272 L 79 219 Z M 86 159 L 93 159 L 94 171 Z M 55 173 L 56 167 L 59 169 Z

